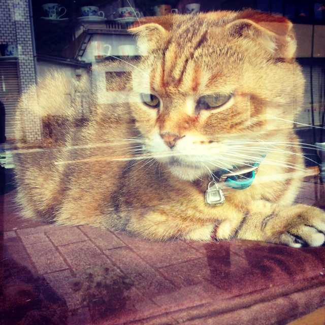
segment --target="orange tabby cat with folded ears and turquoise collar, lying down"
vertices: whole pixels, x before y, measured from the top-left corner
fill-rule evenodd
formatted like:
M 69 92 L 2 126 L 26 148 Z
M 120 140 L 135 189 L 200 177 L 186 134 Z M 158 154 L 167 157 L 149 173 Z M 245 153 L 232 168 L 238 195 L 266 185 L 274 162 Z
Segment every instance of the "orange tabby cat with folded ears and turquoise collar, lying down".
M 295 204 L 304 160 L 287 121 L 304 78 L 292 29 L 250 9 L 142 18 L 129 28 L 141 59 L 93 68 L 128 72 L 89 95 L 79 128 L 79 104 L 65 94 L 89 81 L 49 74 L 17 113 L 23 215 L 158 241 L 322 245 L 325 212 Z M 34 150 L 24 150 L 26 112 L 52 125 Z

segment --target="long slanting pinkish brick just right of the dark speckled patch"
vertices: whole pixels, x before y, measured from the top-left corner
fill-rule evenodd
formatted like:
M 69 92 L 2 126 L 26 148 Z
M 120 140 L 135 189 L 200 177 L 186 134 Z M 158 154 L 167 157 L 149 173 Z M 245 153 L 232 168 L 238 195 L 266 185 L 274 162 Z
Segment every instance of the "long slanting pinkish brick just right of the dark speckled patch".
M 174 290 L 174 286 L 127 247 L 105 251 L 122 272 L 132 278 L 135 287 L 150 298 Z

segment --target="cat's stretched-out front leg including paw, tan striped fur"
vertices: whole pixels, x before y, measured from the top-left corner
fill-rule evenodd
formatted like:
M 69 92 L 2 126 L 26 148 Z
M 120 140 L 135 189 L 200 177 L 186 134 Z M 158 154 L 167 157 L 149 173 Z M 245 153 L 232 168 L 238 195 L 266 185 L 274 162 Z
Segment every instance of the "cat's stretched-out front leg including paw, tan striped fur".
M 325 241 L 325 212 L 303 204 L 280 206 L 255 201 L 249 205 L 236 237 L 291 247 L 320 246 Z

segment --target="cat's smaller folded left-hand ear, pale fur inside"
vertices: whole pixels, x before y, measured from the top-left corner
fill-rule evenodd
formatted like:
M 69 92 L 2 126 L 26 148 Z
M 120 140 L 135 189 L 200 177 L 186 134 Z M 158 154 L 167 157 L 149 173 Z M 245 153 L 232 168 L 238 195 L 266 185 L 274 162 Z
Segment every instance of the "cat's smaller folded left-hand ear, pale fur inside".
M 144 17 L 128 29 L 131 34 L 137 36 L 140 55 L 146 55 L 149 49 L 152 51 L 164 44 L 168 30 L 171 28 L 171 20 L 168 16 Z

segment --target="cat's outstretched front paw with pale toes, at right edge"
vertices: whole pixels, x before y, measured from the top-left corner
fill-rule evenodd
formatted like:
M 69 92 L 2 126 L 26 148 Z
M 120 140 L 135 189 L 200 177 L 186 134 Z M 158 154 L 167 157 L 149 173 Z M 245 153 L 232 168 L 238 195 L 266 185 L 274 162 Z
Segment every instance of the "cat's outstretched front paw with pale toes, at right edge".
M 295 205 L 278 207 L 273 218 L 266 217 L 262 227 L 271 241 L 291 247 L 321 246 L 325 241 L 325 212 L 321 209 Z

